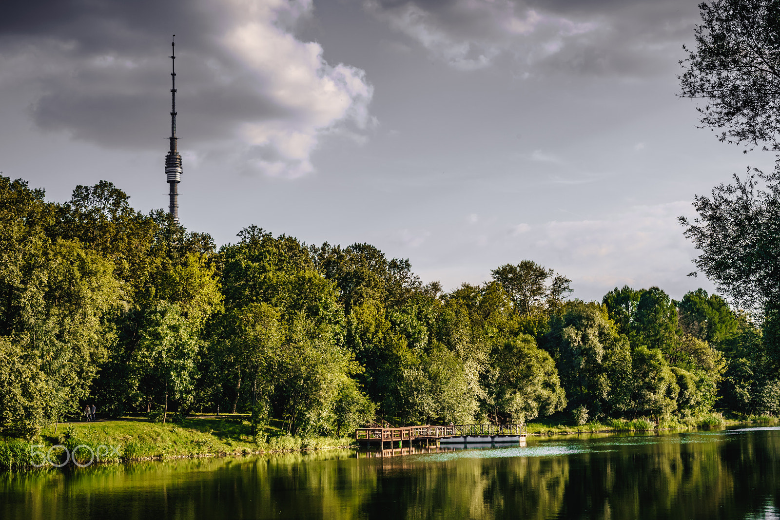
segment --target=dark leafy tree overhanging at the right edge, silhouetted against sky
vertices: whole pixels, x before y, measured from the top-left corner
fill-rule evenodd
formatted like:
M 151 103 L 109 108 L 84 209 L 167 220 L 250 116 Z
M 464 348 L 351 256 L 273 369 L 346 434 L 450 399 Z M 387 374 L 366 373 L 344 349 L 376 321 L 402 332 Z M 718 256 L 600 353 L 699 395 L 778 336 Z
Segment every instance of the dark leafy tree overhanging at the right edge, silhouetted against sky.
M 682 62 L 682 95 L 707 100 L 699 108 L 701 122 L 724 129 L 722 141 L 780 150 L 780 2 L 714 0 L 700 10 L 696 49 Z M 742 375 L 730 370 L 729 380 L 743 380 L 753 370 L 764 372 L 753 373 L 754 380 L 771 380 L 780 366 L 778 167 L 769 174 L 749 168 L 744 179 L 735 175 L 732 184 L 716 186 L 711 196 L 695 197 L 693 222 L 679 218 L 686 237 L 700 250 L 694 260 L 698 271 L 761 324 L 761 351 L 768 364 L 753 363 L 750 356 L 732 358 Z M 747 386 L 731 390 L 737 388 Z

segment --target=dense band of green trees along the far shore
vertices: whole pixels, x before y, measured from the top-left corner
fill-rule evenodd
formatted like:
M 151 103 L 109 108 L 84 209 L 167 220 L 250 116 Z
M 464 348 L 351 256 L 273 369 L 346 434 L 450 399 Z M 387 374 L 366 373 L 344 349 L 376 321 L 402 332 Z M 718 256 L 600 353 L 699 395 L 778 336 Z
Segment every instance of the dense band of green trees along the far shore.
M 367 244 L 238 238 L 216 249 L 109 182 L 58 204 L 0 177 L 2 431 L 34 436 L 87 402 L 249 412 L 255 433 L 279 419 L 292 434 L 780 411 L 761 324 L 701 289 L 583 302 L 523 260 L 442 292 Z

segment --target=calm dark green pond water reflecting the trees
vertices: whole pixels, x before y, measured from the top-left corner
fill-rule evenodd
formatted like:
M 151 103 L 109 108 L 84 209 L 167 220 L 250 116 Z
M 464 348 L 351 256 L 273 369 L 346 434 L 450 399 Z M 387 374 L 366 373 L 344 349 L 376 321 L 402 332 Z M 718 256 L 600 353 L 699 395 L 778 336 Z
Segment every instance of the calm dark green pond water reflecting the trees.
M 363 455 L 363 454 L 361 454 Z M 776 518 L 780 427 L 0 476 L 0 518 Z

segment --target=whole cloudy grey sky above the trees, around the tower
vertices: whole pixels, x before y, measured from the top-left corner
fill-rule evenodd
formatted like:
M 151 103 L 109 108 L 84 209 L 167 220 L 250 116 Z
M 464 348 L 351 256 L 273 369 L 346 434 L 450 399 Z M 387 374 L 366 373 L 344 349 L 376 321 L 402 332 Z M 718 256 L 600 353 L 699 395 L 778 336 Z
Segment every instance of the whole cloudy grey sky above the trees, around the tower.
M 106 179 L 167 206 L 176 34 L 179 217 L 369 242 L 424 281 L 534 260 L 573 296 L 658 285 L 675 218 L 746 166 L 676 97 L 698 0 L 49 0 L 0 16 L 0 171 L 50 200 Z

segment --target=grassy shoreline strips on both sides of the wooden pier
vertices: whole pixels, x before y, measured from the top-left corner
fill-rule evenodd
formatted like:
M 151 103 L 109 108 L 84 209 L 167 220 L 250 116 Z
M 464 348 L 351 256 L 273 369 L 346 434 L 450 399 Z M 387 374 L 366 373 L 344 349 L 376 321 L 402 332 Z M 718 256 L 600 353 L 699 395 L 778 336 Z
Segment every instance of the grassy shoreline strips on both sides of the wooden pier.
M 558 435 L 648 433 L 671 430 L 707 429 L 711 427 L 773 424 L 780 418 L 772 416 L 748 416 L 725 419 L 719 413 L 691 417 L 655 424 L 647 418 L 634 420 L 612 419 L 604 423 L 594 421 L 583 425 L 558 424 L 554 421 L 528 424 L 529 437 L 554 437 Z M 94 423 L 62 423 L 58 433 L 48 427 L 33 441 L 18 439 L 0 440 L 0 470 L 33 471 L 55 469 L 62 464 L 65 451 L 52 447 L 60 445 L 73 455 L 69 461 L 81 467 L 93 463 L 140 462 L 150 460 L 174 460 L 179 458 L 226 457 L 267 455 L 292 451 L 317 451 L 330 449 L 359 449 L 353 437 L 291 437 L 278 428 L 269 426 L 260 433 L 261 440 L 253 442 L 251 424 L 239 414 L 193 416 L 180 423 L 153 423 L 146 419 L 126 417 L 119 420 L 99 420 Z M 264 440 L 262 440 L 264 439 Z M 90 450 L 83 446 L 90 447 Z M 105 446 L 101 453 L 99 446 Z M 81 448 L 79 448 L 81 447 Z M 32 464 L 34 450 L 48 454 L 51 463 L 36 467 Z M 91 454 L 98 452 L 97 460 Z M 90 462 L 91 460 L 91 462 Z

